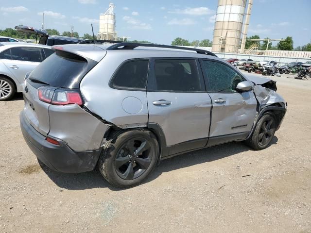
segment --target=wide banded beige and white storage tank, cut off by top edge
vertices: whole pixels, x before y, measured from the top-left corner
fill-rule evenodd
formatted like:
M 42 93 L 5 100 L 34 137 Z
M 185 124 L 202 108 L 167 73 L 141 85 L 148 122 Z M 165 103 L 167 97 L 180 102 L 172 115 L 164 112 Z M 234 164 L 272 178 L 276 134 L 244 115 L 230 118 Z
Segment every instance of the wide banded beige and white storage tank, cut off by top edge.
M 218 0 L 212 51 L 239 50 L 246 0 Z

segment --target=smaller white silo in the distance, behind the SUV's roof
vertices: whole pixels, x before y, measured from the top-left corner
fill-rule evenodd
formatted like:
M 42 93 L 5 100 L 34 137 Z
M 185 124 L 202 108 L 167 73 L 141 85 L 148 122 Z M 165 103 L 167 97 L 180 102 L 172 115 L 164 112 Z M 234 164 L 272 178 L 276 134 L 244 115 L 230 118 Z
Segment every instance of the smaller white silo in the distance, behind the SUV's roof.
M 99 16 L 99 33 L 97 37 L 100 40 L 117 40 L 114 8 L 114 4 L 109 3 L 108 10 Z

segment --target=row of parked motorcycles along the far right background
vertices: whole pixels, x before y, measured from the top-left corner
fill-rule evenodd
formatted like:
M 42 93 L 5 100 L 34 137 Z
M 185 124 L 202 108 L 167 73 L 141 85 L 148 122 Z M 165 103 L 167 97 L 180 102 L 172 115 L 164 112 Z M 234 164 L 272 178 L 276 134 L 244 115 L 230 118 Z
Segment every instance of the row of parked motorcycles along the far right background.
M 235 66 L 236 64 L 232 65 Z M 286 65 L 279 67 L 277 66 L 277 64 L 274 63 L 265 64 L 261 66 L 260 63 L 252 63 L 246 64 L 245 66 L 240 67 L 240 69 L 244 69 L 248 73 L 254 72 L 262 75 L 280 76 L 280 74 L 292 73 L 297 74 L 297 77 L 295 77 L 295 79 L 303 79 L 303 78 L 307 79 L 307 76 L 311 78 L 311 67 L 302 67 L 302 66 L 288 67 Z

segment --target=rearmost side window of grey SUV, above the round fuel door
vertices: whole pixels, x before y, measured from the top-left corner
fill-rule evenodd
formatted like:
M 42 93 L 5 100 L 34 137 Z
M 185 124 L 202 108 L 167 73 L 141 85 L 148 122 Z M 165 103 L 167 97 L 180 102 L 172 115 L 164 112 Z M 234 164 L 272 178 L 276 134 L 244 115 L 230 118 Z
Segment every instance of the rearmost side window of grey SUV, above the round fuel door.
M 113 78 L 112 85 L 125 88 L 146 88 L 149 60 L 128 61 Z

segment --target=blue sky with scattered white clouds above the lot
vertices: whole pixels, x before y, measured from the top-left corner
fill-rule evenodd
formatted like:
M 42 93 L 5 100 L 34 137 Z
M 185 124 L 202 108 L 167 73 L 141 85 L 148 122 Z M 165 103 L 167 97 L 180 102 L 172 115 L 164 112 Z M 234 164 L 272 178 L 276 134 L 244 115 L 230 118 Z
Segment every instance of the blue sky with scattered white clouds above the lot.
M 115 4 L 116 31 L 129 40 L 171 44 L 174 38 L 213 38 L 218 0 L 111 0 Z M 109 0 L 0 0 L 0 29 L 23 24 L 60 33 L 74 31 L 80 36 L 99 31 L 99 15 Z M 294 47 L 311 42 L 311 0 L 254 0 L 248 36 L 285 38 L 292 36 Z M 276 44 L 276 42 L 275 42 Z M 275 45 L 274 44 L 274 45 Z

